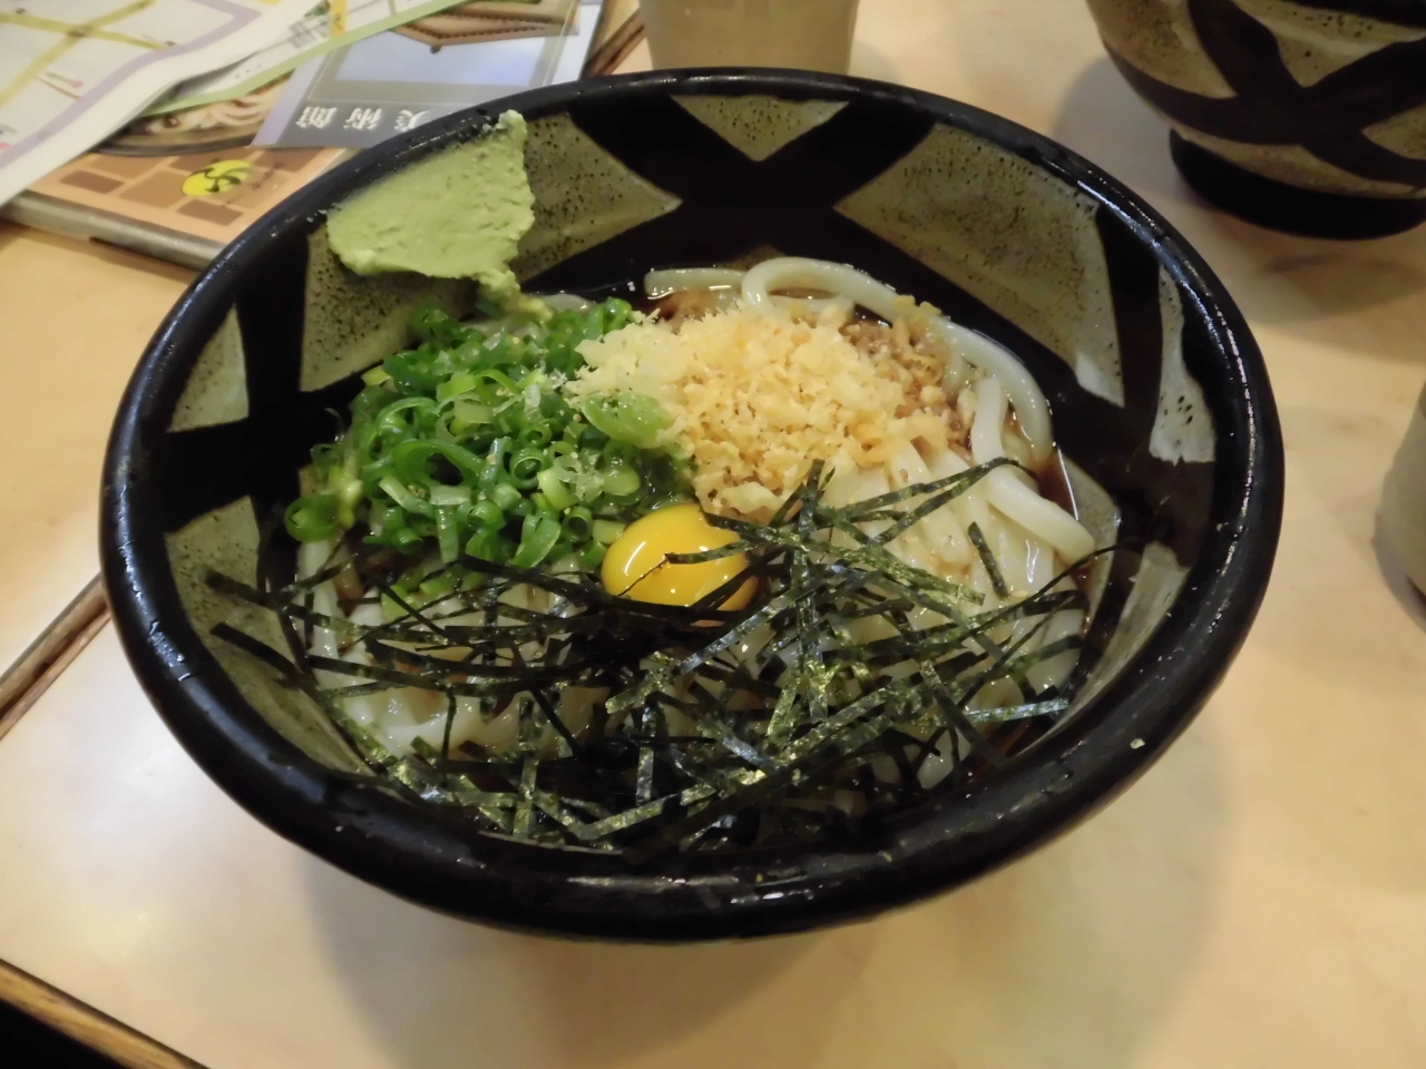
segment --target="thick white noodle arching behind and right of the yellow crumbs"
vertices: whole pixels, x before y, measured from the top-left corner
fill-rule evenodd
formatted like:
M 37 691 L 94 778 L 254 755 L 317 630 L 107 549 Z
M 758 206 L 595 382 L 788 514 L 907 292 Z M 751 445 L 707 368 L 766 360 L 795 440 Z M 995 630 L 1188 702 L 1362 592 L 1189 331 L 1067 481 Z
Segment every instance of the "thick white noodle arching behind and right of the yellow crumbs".
M 824 259 L 800 257 L 764 259 L 743 275 L 743 298 L 754 306 L 771 306 L 774 289 L 820 289 L 840 294 L 887 322 L 904 314 L 904 301 L 891 286 L 853 267 Z M 1054 446 L 1050 405 L 1025 366 L 990 338 L 953 324 L 944 315 L 928 316 L 928 321 L 953 353 L 1000 379 L 1015 408 L 1015 418 L 1030 442 L 1035 463 L 1048 460 Z

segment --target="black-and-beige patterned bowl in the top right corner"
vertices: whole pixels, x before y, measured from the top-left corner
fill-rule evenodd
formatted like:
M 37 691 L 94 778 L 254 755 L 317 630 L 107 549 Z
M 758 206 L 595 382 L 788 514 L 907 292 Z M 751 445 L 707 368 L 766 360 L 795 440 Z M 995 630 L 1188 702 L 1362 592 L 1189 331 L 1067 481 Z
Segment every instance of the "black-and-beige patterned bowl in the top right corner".
M 1320 237 L 1426 220 L 1426 4 L 1089 0 L 1089 10 L 1208 200 Z

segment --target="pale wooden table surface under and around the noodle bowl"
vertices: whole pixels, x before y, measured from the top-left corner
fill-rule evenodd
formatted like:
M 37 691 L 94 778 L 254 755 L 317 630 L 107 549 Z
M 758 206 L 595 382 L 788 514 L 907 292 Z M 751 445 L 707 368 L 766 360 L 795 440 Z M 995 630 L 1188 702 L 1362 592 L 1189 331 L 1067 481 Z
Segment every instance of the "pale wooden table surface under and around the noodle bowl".
M 1426 229 L 1328 244 L 1195 201 L 1075 3 L 863 0 L 854 68 L 1102 164 L 1252 322 L 1286 436 L 1282 547 L 1182 741 L 1047 849 L 870 924 L 563 944 L 406 905 L 268 832 L 174 744 L 106 630 L 0 743 L 0 958 L 211 1069 L 1426 1065 L 1426 609 L 1375 519 L 1426 378 Z M 93 279 L 63 312 L 0 284 L 11 382 L 33 353 L 66 363 L 0 420 L 6 520 L 64 534 L 0 560 L 11 589 L 43 572 L 63 597 L 93 570 L 71 532 L 93 526 L 107 413 L 183 277 L 6 237 L 0 278 L 29 294 L 44 271 Z

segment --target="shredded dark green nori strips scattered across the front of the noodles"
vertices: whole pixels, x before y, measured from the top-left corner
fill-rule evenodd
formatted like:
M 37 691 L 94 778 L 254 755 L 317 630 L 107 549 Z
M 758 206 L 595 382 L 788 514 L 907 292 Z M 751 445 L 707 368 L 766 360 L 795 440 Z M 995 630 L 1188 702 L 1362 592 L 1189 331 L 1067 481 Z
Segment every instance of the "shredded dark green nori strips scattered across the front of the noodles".
M 749 562 L 690 607 L 610 596 L 589 573 L 475 557 L 459 566 L 478 582 L 416 604 L 394 589 L 411 562 L 371 552 L 354 532 L 308 579 L 255 589 L 210 577 L 275 611 L 289 654 L 228 624 L 214 634 L 309 696 L 375 781 L 491 834 L 635 861 L 870 834 L 888 812 L 1002 763 L 997 728 L 1044 728 L 1070 707 L 1068 694 L 1037 693 L 1027 671 L 1078 647 L 1072 636 L 1030 649 L 1054 613 L 1085 607 L 1078 589 L 1060 589 L 1082 562 L 1022 600 L 981 609 L 974 590 L 887 547 L 1002 463 L 846 507 L 821 499 L 817 465 L 766 526 L 710 516 L 737 542 L 667 557 Z M 971 540 L 1005 599 L 978 527 Z M 384 597 L 395 619 L 359 626 L 314 610 L 312 592 L 348 570 L 371 593 L 345 607 Z M 720 610 L 749 577 L 757 580 L 753 601 Z M 548 609 L 509 604 L 522 586 L 545 592 Z M 314 629 L 337 634 L 342 657 L 311 654 Z M 318 671 L 348 683 L 324 687 Z M 1021 701 L 981 707 L 977 697 L 997 680 L 1011 680 Z M 411 754 L 396 755 L 354 720 L 345 698 L 404 687 L 435 691 L 446 704 L 439 745 L 416 738 Z M 605 693 L 589 723 L 566 723 L 569 687 Z M 518 738 L 501 753 L 453 747 L 461 698 L 478 701 L 486 720 L 513 703 Z M 950 771 L 923 785 L 933 755 Z

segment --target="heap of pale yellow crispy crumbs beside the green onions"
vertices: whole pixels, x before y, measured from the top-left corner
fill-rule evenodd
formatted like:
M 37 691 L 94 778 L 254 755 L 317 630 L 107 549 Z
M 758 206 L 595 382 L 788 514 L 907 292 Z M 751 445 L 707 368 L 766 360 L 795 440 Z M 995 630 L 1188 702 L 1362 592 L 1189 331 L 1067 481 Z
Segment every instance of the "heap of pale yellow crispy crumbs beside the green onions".
M 917 440 L 944 449 L 961 438 L 940 386 L 944 358 L 901 324 L 843 328 L 737 304 L 676 326 L 647 319 L 579 351 L 588 366 L 566 385 L 570 399 L 656 399 L 670 418 L 659 445 L 692 459 L 707 512 L 766 520 L 813 460 L 873 468 Z

